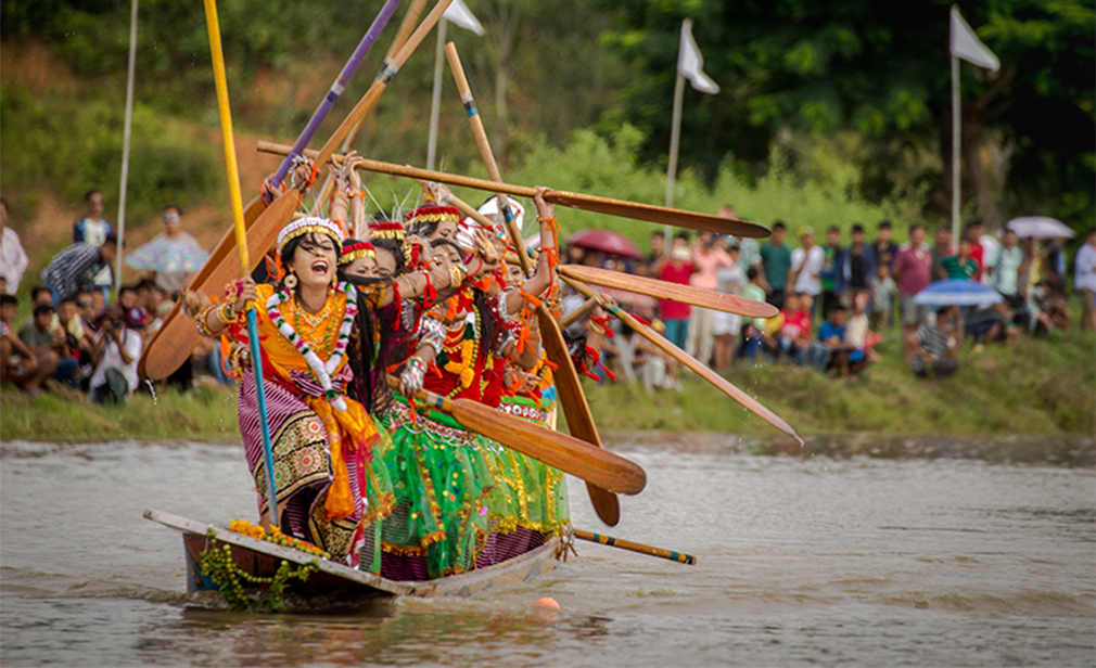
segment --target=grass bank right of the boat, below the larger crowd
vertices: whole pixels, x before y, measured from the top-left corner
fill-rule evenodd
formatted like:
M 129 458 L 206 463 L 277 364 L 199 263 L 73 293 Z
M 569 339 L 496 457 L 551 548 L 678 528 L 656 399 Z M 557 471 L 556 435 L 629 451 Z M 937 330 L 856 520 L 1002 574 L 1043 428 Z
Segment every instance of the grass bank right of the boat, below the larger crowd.
M 931 387 L 910 372 L 897 341 L 857 382 L 791 365 L 740 364 L 728 378 L 800 435 L 1066 435 L 1096 433 L 1096 336 L 1070 332 L 1015 348 L 964 347 L 952 378 Z M 604 431 L 663 429 L 770 435 L 761 418 L 708 383 L 648 394 L 639 384 L 587 384 Z

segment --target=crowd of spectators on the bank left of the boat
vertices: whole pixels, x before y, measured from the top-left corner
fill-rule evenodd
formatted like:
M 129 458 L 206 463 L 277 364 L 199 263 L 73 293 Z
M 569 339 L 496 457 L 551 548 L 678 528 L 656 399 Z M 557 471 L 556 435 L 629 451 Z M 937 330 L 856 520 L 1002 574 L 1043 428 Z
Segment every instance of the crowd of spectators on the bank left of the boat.
M 89 192 L 84 206 L 85 215 L 72 223 L 72 244 L 42 269 L 43 283 L 30 289 L 31 315 L 16 323 L 15 292 L 30 261 L 19 235 L 7 224 L 8 204 L 0 199 L 0 382 L 33 395 L 53 389 L 82 392 L 98 404 L 124 405 L 136 391 L 155 391 L 139 382 L 137 364 L 190 273 L 142 272 L 136 281 L 121 286 L 112 299 L 118 239 L 102 216 L 102 192 Z M 163 239 L 197 246 L 182 230 L 180 207 L 165 207 L 163 224 L 163 234 L 146 246 Z M 219 348 L 203 342 L 167 383 L 189 390 L 195 369 L 201 368 L 209 372 L 213 382 L 230 382 L 221 368 Z

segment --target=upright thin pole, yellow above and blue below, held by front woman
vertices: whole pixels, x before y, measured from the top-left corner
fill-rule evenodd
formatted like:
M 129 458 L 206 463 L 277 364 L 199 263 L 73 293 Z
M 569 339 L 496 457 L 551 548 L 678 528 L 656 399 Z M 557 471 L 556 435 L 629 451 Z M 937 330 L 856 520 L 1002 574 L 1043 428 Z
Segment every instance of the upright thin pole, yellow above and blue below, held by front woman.
M 217 21 L 216 0 L 205 0 L 206 25 L 209 28 L 209 51 L 213 55 L 213 74 L 217 84 L 217 106 L 220 110 L 220 128 L 225 136 L 225 163 L 228 169 L 228 191 L 232 199 L 232 218 L 236 222 L 236 244 L 240 250 L 240 273 L 251 275 L 248 263 L 248 233 L 243 229 L 243 201 L 240 197 L 240 173 L 236 164 L 236 145 L 232 141 L 232 112 L 228 104 L 228 82 L 225 77 L 225 55 L 220 48 L 220 24 Z M 255 373 L 255 399 L 259 404 L 259 423 L 263 431 L 263 461 L 266 464 L 266 503 L 270 522 L 279 526 L 277 492 L 274 488 L 274 452 L 271 449 L 270 425 L 266 423 L 266 395 L 263 391 L 263 357 L 259 345 L 259 324 L 255 303 L 248 302 L 248 339 L 251 342 L 251 364 Z

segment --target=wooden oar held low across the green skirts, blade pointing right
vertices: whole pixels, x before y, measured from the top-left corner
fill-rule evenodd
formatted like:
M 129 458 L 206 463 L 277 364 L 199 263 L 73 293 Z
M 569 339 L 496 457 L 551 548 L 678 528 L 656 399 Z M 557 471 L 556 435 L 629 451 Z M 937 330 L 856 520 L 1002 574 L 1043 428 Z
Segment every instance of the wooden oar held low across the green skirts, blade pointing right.
M 388 384 L 399 389 L 400 383 L 389 376 Z M 641 467 L 572 436 L 470 399 L 447 399 L 426 390 L 419 390 L 415 399 L 452 415 L 467 429 L 598 487 L 618 494 L 639 494 L 647 486 L 647 473 Z

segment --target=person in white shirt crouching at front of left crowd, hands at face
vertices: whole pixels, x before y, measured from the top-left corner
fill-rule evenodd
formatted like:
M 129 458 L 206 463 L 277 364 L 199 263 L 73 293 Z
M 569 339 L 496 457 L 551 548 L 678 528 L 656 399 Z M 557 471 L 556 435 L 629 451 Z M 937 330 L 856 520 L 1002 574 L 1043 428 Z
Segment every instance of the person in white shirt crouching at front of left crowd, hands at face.
M 122 307 L 106 310 L 99 336 L 92 346 L 95 371 L 91 376 L 91 401 L 125 405 L 126 398 L 137 388 L 137 360 L 141 354 L 141 336 L 126 325 Z

